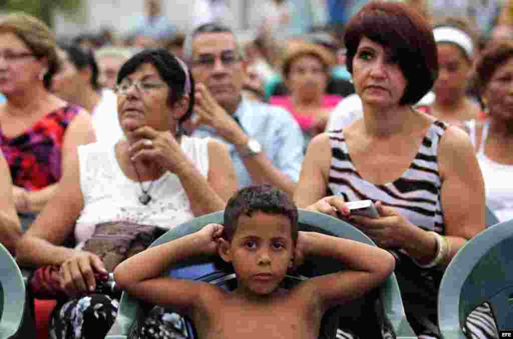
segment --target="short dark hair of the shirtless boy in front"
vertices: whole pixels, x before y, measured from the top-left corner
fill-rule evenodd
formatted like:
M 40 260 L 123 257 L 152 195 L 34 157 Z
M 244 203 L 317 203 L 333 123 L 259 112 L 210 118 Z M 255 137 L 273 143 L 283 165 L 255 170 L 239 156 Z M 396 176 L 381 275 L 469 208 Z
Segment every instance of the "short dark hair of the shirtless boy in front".
M 255 212 L 284 215 L 289 218 L 292 241 L 298 240 L 298 208 L 287 193 L 270 185 L 252 185 L 236 192 L 228 201 L 224 211 L 224 233 L 231 242 L 239 226 L 241 215 L 251 216 Z

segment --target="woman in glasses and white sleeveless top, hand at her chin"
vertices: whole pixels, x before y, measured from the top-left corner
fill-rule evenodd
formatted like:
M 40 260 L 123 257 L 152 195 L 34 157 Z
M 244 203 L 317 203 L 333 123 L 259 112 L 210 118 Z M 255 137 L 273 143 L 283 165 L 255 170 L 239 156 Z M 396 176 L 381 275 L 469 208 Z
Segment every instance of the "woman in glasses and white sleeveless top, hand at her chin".
M 66 163 L 63 188 L 19 241 L 18 261 L 50 267 L 54 292 L 66 296 L 53 312 L 51 338 L 104 337 L 119 293 L 102 282 L 116 265 L 166 230 L 224 209 L 235 192 L 226 147 L 182 132 L 193 89 L 185 63 L 164 49 L 130 58 L 116 89 L 124 137 L 79 147 Z M 62 246 L 70 235 L 74 249 Z M 152 324 L 183 335 L 180 318 L 152 314 Z

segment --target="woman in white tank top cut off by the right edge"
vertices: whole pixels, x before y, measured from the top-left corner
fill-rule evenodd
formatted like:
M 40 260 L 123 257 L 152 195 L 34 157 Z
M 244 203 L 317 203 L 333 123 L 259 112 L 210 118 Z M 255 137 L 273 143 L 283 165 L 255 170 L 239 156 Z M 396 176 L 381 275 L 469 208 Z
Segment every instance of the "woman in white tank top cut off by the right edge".
M 502 222 L 513 219 L 513 43 L 495 43 L 482 52 L 476 77 L 487 118 L 471 121 L 468 127 L 483 173 L 486 204 Z

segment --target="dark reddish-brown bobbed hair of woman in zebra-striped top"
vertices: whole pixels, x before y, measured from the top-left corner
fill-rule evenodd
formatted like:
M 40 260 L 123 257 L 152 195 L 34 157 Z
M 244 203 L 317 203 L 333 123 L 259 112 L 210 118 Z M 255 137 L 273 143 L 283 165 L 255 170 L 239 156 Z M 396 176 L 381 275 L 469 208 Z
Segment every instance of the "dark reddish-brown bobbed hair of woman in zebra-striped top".
M 352 61 L 363 37 L 390 49 L 407 80 L 400 104 L 416 104 L 438 77 L 437 46 L 432 27 L 417 11 L 399 2 L 371 2 L 346 26 L 346 65 Z M 415 79 L 415 81 L 414 81 Z

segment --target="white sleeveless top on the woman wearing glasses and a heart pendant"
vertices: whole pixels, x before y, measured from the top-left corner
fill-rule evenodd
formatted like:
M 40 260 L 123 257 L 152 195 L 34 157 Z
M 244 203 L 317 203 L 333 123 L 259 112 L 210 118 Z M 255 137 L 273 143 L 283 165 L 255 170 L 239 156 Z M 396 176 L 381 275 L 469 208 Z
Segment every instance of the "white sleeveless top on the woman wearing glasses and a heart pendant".
M 201 175 L 208 176 L 210 138 L 182 136 L 181 147 Z M 139 182 L 125 176 L 115 156 L 115 144 L 94 143 L 78 147 L 80 187 L 84 209 L 75 226 L 77 248 L 92 236 L 96 224 L 129 221 L 172 228 L 194 217 L 179 177 L 169 171 L 153 181 L 148 205 L 139 202 Z M 142 183 L 147 190 L 151 181 Z

